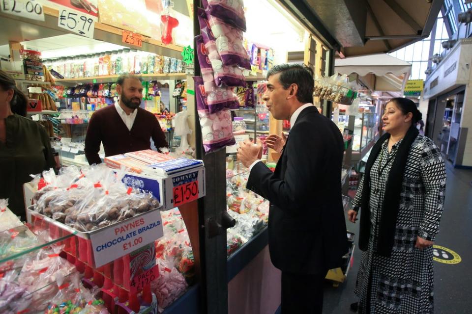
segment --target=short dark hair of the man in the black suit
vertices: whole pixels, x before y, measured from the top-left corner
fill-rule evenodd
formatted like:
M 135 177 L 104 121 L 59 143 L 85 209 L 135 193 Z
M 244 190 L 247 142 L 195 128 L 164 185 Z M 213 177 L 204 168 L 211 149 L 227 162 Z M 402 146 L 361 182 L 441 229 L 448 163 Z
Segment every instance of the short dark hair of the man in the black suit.
M 274 66 L 268 73 L 267 79 L 280 73 L 279 81 L 287 89 L 291 84 L 298 85 L 296 99 L 303 104 L 313 103 L 315 80 L 313 70 L 303 64 L 284 63 Z

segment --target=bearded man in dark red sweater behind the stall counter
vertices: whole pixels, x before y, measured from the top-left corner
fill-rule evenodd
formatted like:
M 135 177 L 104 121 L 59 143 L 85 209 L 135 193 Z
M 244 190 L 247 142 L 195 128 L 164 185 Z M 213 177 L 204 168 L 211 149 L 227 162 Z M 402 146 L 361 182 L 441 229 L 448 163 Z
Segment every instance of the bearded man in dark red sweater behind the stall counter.
M 164 132 L 154 114 L 140 108 L 143 99 L 141 80 L 123 74 L 117 80 L 118 103 L 93 113 L 85 137 L 85 156 L 89 164 L 100 163 L 103 143 L 105 156 L 150 149 L 150 138 L 157 149 L 168 147 Z

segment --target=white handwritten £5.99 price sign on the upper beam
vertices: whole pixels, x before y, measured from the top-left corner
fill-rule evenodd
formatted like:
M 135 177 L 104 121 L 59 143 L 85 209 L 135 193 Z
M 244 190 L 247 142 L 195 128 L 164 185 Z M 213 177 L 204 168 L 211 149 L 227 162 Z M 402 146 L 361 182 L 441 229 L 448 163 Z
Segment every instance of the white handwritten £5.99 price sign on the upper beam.
M 87 15 L 70 9 L 60 10 L 58 26 L 76 34 L 93 38 L 95 21 Z

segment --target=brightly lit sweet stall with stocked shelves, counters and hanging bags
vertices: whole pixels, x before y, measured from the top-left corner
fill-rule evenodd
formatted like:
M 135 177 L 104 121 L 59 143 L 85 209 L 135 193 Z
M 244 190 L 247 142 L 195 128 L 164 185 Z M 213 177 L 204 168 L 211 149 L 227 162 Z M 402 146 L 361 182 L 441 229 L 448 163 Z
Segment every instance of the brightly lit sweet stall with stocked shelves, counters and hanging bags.
M 244 26 L 240 24 L 242 20 L 235 20 L 233 15 L 228 19 L 224 11 L 219 12 L 221 16 L 212 17 L 218 12 L 210 12 L 206 1 L 194 1 L 193 6 L 191 1 L 175 1 L 174 8 L 162 7 L 161 1 L 144 0 L 137 1 L 133 7 L 128 1 L 114 1 L 113 5 L 108 0 L 83 1 L 90 3 L 89 7 L 82 8 L 65 2 L 44 1 L 38 4 L 35 15 L 31 12 L 19 15 L 8 7 L 2 7 L 0 13 L 0 22 L 7 30 L 0 35 L 0 54 L 10 55 L 8 62 L 2 59 L 1 68 L 15 77 L 17 85 L 28 93 L 29 115 L 48 126 L 60 162 L 67 166 L 59 171 L 59 176 L 50 174 L 50 180 L 47 174 L 43 175 L 43 179 L 48 179 L 46 182 L 25 185 L 30 225 L 28 228 L 18 226 L 25 233 L 22 236 L 26 239 L 22 242 L 25 249 L 9 252 L 0 260 L 1 266 L 9 265 L 15 270 L 16 278 L 8 283 L 21 292 L 13 297 L 40 298 L 43 301 L 41 313 L 60 307 L 60 302 L 51 303 L 58 298 L 66 304 L 69 300 L 72 304 L 73 298 L 87 300 L 86 303 L 91 302 L 99 309 L 107 308 L 111 313 L 137 310 L 138 306 L 150 307 L 152 313 L 242 313 L 242 309 L 248 308 L 256 312 L 255 309 L 275 312 L 280 304 L 280 271 L 268 259 L 268 202 L 244 188 L 247 172 L 238 166 L 230 144 L 243 138 L 264 139 L 269 132 L 290 131 L 288 122 L 270 117 L 261 99 L 266 73 L 274 64 L 298 61 L 312 67 L 317 76 L 331 75 L 333 43 L 307 30 L 287 6 L 275 0 L 246 1 L 244 7 L 236 1 Z M 118 12 L 126 14 L 117 19 L 121 16 Z M 261 12 L 277 17 L 272 20 L 273 25 L 268 27 L 266 21 L 261 25 Z M 192 24 L 193 32 L 189 31 Z M 237 30 L 234 30 L 235 24 Z M 213 51 L 212 44 L 217 47 Z M 25 68 L 26 64 L 30 68 Z M 230 67 L 229 70 L 226 67 Z M 116 79 L 126 72 L 142 79 L 145 95 L 141 106 L 156 114 L 162 129 L 167 131 L 171 149 L 164 156 L 172 157 L 173 165 L 174 159 L 181 157 L 202 165 L 198 171 L 192 170 L 191 176 L 188 171 L 176 170 L 173 173 L 161 171 L 156 177 L 152 172 L 157 171 L 156 167 L 152 171 L 147 167 L 168 160 L 143 160 L 142 154 L 115 158 L 102 155 L 108 171 L 113 168 L 119 174 L 121 165 L 128 169 L 122 180 L 114 182 L 118 186 L 118 194 L 114 194 L 104 184 L 107 177 L 104 172 L 98 171 L 100 175 L 94 176 L 94 168 L 87 166 L 82 141 L 89 118 L 95 110 L 114 104 Z M 201 78 L 194 81 L 193 75 Z M 213 88 L 221 88 L 215 90 L 233 98 L 224 98 L 221 102 L 220 94 L 207 93 L 215 91 Z M 161 102 L 176 115 L 162 112 Z M 331 102 L 316 99 L 315 105 L 328 114 Z M 271 153 L 265 152 L 265 160 L 276 160 L 277 156 Z M 274 166 L 269 162 L 267 165 Z M 76 171 L 72 179 L 63 180 L 61 176 L 74 169 L 79 172 Z M 83 182 L 89 180 L 89 175 L 93 180 Z M 346 181 L 347 171 L 343 175 L 342 180 Z M 177 178 L 185 180 L 180 182 Z M 59 182 L 67 184 L 58 185 Z M 195 182 L 198 184 L 193 185 Z M 65 195 L 60 199 L 63 203 L 54 194 L 58 189 Z M 86 190 L 89 193 L 85 196 L 79 193 Z M 43 197 L 43 193 L 50 193 L 58 205 L 51 203 L 53 199 Z M 111 199 L 110 195 L 117 197 Z M 143 195 L 153 207 L 137 212 L 141 204 L 129 198 L 141 199 Z M 114 204 L 121 198 L 133 201 L 132 205 L 127 205 L 129 210 L 122 206 L 124 203 Z M 179 201 L 183 199 L 185 201 Z M 86 211 L 77 209 L 76 212 L 75 204 Z M 349 200 L 345 199 L 345 206 L 348 204 Z M 4 208 L 7 211 L 6 206 Z M 90 208 L 98 215 L 91 218 Z M 103 211 L 105 213 L 100 215 Z M 81 213 L 88 215 L 80 216 L 85 220 L 78 223 Z M 111 213 L 110 219 L 102 219 Z M 157 214 L 159 219 L 152 216 Z M 146 215 L 151 218 L 145 219 Z M 147 269 L 144 269 L 147 265 L 140 265 L 144 268 L 141 277 L 136 277 L 142 279 L 136 289 L 131 287 L 135 277 L 128 276 L 130 267 L 125 265 L 130 263 L 132 254 L 119 255 L 118 250 L 111 249 L 114 239 L 110 240 L 110 246 L 108 242 L 99 246 L 94 243 L 102 228 L 120 233 L 121 224 L 131 221 L 139 221 L 139 226 L 135 223 L 138 235 L 139 230 L 151 225 L 160 230 L 152 239 L 141 241 L 138 236 L 120 240 L 121 251 L 125 247 L 133 252 L 135 248 L 147 247 L 148 255 L 157 265 Z M 124 229 L 126 231 L 126 227 Z M 39 237 L 41 248 L 28 245 Z M 12 240 L 9 233 L 3 238 L 7 242 Z M 97 256 L 90 254 L 94 245 L 95 251 L 99 247 L 102 252 Z M 34 274 L 34 278 L 39 278 L 40 287 L 25 290 L 20 280 L 24 277 L 24 261 L 34 256 L 49 258 L 51 254 L 59 258 L 57 263 L 69 263 L 65 263 L 66 271 L 60 275 L 54 273 L 46 280 L 45 275 L 39 273 L 45 267 L 40 268 L 38 274 Z M 346 256 L 347 266 L 351 256 L 352 252 Z M 48 262 L 38 259 L 34 261 L 41 261 L 39 265 Z M 71 273 L 79 276 L 82 284 L 72 285 Z M 342 276 L 346 273 L 343 269 Z M 58 282 L 58 278 L 64 280 Z M 242 289 L 256 292 L 257 283 L 261 281 L 267 283 L 261 297 L 248 300 L 246 294 L 241 293 Z M 64 282 L 75 290 L 91 291 L 88 292 L 91 295 L 71 293 L 66 299 L 60 294 Z M 42 294 L 46 290 L 49 294 Z M 58 298 L 54 298 L 56 294 Z M 3 300 L 1 296 L 0 300 Z

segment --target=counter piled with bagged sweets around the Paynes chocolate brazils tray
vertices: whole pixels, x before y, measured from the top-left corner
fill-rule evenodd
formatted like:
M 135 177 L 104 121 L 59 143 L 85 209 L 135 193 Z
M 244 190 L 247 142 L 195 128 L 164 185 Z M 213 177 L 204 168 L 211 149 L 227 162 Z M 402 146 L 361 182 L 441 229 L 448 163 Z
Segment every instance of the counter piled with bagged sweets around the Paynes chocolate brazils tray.
M 180 211 L 160 210 L 112 169 L 82 171 L 35 179 L 27 224 L 0 200 L 0 313 L 197 311 L 195 258 Z

